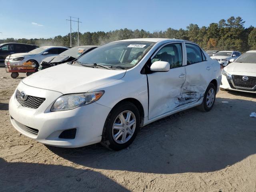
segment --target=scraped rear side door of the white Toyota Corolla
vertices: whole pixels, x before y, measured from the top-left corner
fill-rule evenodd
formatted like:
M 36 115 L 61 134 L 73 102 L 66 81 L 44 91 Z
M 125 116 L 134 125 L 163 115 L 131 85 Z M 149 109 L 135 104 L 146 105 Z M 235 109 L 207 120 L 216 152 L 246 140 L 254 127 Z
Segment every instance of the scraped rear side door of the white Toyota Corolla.
M 192 43 L 186 46 L 186 81 L 182 86 L 184 104 L 197 102 L 204 96 L 208 84 L 213 79 L 213 60 L 206 60 L 201 48 Z

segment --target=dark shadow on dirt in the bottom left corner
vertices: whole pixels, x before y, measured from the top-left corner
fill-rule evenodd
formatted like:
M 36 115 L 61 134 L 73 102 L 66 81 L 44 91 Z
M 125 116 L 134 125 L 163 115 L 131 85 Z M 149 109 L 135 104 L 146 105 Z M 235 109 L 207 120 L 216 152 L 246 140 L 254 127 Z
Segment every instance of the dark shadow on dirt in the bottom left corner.
M 9 163 L 0 158 L 0 170 L 1 191 L 129 191 L 99 172 L 88 169 Z

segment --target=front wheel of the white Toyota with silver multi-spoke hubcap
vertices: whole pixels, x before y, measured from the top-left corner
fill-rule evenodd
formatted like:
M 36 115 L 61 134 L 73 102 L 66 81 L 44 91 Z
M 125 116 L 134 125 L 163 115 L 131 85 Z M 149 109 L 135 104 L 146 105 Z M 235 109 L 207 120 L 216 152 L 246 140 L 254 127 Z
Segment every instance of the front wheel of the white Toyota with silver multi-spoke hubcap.
M 127 119 L 128 114 L 130 114 L 129 120 Z M 135 139 L 139 128 L 140 112 L 138 108 L 131 102 L 120 103 L 108 114 L 102 132 L 101 144 L 116 151 L 127 148 Z

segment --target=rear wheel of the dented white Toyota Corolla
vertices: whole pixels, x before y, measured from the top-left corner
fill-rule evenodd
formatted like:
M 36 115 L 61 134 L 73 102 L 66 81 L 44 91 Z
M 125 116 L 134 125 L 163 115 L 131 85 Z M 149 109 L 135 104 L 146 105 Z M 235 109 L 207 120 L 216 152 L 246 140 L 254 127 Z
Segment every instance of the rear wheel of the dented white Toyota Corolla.
M 197 106 L 200 111 L 208 112 L 212 109 L 216 98 L 216 87 L 210 83 L 204 93 L 204 100 L 202 104 Z M 210 100 L 210 102 L 209 102 Z

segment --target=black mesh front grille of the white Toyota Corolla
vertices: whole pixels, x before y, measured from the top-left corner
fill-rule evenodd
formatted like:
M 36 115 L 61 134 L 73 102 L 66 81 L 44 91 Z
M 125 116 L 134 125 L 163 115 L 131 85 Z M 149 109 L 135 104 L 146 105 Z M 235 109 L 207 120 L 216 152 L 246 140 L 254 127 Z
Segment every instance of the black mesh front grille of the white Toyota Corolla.
M 17 90 L 16 99 L 22 106 L 32 109 L 37 109 L 45 101 L 45 98 L 34 97 L 30 95 L 28 95 L 28 98 L 26 98 L 26 100 L 23 100 L 21 98 L 21 93 L 19 90 Z

